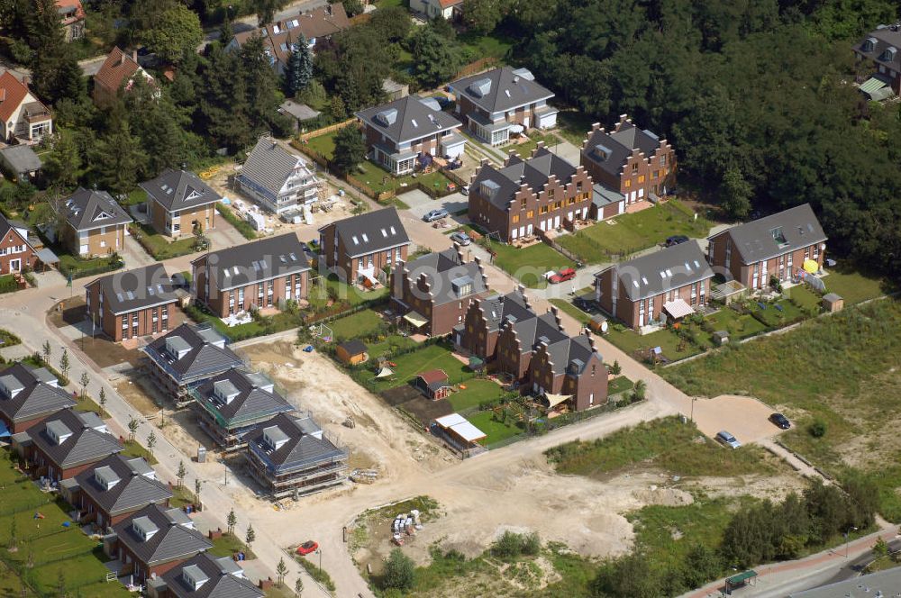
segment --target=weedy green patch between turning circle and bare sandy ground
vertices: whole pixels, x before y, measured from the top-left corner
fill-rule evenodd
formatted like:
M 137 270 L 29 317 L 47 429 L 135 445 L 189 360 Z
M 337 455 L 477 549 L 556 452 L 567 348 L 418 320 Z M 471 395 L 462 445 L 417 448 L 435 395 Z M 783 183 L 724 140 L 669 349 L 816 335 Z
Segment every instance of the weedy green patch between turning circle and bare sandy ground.
M 760 447 L 724 449 L 691 422 L 676 417 L 646 421 L 603 439 L 576 440 L 545 452 L 561 474 L 604 477 L 626 467 L 659 467 L 678 476 L 741 476 L 773 467 Z

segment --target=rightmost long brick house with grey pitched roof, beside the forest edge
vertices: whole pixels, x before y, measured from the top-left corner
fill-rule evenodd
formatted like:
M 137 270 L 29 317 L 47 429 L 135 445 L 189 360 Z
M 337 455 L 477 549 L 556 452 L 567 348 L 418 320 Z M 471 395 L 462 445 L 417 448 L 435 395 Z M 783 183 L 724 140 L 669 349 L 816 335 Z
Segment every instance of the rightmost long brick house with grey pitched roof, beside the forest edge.
M 823 267 L 826 233 L 810 204 L 745 222 L 710 237 L 707 259 L 716 274 L 752 290 L 802 276 L 807 260 Z

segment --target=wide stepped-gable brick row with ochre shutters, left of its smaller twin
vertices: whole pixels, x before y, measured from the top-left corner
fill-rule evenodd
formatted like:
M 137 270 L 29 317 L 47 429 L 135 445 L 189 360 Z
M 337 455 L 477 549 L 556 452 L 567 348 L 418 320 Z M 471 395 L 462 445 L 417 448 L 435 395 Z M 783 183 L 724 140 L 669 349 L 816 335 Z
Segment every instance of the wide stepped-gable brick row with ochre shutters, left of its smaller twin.
M 539 141 L 531 158 L 511 152 L 504 168 L 482 161 L 469 184 L 469 219 L 509 242 L 587 220 L 593 193 L 585 168 Z

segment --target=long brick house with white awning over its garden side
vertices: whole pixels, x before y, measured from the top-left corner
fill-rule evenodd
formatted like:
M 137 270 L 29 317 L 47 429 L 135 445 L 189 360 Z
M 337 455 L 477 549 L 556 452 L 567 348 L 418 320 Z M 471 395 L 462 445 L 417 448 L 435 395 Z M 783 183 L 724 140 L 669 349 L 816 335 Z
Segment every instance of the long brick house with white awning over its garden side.
M 595 275 L 595 300 L 606 313 L 640 330 L 706 305 L 713 277 L 697 243 L 687 241 L 601 270 Z

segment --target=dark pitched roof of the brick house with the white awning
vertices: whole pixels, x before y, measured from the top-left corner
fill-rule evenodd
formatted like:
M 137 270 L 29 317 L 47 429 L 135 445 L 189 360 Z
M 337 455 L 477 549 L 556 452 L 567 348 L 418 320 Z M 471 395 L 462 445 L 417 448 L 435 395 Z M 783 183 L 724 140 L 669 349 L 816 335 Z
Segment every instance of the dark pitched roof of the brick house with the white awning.
M 614 276 L 619 276 L 619 285 L 630 301 L 667 293 L 670 289 L 692 285 L 714 276 L 714 271 L 710 269 L 704 253 L 694 240 L 620 262 L 601 270 L 595 276 L 601 276 L 611 269 L 614 270 Z

